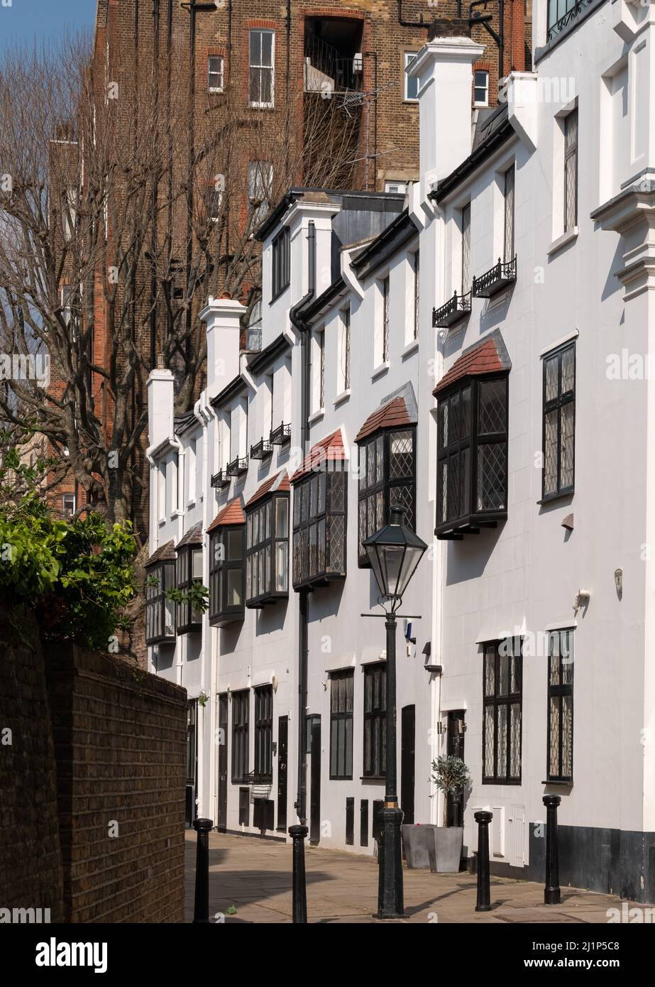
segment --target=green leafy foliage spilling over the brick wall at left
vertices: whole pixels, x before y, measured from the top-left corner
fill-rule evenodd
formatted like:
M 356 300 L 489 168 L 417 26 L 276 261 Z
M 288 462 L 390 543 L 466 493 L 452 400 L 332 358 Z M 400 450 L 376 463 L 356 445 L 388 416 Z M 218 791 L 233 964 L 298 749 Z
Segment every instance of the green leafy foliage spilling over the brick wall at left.
M 8 471 L 29 472 L 14 455 Z M 108 525 L 100 514 L 56 520 L 33 490 L 0 503 L 0 592 L 36 610 L 45 638 L 113 650 L 125 604 L 134 595 L 136 543 L 128 523 Z

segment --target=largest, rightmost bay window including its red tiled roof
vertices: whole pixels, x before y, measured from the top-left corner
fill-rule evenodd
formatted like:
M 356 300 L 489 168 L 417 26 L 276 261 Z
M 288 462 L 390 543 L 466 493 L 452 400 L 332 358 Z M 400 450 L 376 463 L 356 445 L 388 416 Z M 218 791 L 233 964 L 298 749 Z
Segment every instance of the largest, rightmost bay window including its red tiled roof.
M 507 517 L 510 366 L 496 331 L 465 350 L 435 388 L 437 538 L 460 540 Z

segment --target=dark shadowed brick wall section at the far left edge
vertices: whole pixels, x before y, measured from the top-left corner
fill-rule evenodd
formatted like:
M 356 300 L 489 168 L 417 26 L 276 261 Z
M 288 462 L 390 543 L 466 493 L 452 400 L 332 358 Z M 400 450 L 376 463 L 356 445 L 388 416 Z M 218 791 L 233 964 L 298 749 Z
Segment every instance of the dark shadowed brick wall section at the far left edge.
M 0 608 L 0 908 L 49 908 L 52 922 L 64 915 L 43 658 L 34 617 L 5 607 Z

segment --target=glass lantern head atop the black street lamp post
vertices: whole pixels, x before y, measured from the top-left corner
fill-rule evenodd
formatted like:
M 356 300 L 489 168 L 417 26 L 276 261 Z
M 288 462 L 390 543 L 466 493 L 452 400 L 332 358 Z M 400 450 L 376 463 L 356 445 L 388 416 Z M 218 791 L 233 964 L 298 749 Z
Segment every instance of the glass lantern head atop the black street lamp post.
M 364 548 L 382 596 L 402 596 L 427 545 L 402 523 L 404 511 L 392 508 L 389 524 L 367 538 Z

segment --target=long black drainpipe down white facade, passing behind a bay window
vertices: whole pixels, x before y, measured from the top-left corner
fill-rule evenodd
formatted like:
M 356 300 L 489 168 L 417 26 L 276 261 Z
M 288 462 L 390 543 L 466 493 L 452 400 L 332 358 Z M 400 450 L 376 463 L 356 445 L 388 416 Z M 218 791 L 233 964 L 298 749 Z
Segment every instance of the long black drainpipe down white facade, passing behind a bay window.
M 292 326 L 300 333 L 301 346 L 301 441 L 305 455 L 310 440 L 310 340 L 309 327 L 300 315 L 301 310 L 316 293 L 316 226 L 312 220 L 307 231 L 308 292 L 289 310 Z M 307 666 L 309 660 L 308 624 L 309 593 L 301 589 L 298 607 L 298 791 L 295 809 L 302 825 L 307 821 Z

